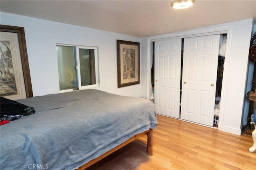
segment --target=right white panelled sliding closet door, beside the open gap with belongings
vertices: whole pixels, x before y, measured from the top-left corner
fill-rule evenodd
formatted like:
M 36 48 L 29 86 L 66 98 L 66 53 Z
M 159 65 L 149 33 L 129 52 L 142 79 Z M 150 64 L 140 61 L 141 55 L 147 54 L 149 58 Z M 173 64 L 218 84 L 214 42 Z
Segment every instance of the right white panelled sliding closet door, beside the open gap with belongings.
M 184 39 L 180 118 L 213 126 L 220 35 Z

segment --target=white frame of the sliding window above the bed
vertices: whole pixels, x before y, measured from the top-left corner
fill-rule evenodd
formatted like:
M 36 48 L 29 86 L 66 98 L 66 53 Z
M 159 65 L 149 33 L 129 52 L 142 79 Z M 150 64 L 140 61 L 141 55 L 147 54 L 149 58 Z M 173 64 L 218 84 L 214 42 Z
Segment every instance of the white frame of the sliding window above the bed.
M 78 88 L 79 90 L 84 90 L 88 88 L 96 88 L 100 86 L 100 81 L 99 81 L 99 64 L 98 64 L 98 47 L 93 47 L 93 46 L 84 46 L 84 45 L 70 45 L 70 44 L 60 44 L 57 43 L 56 47 L 60 46 L 70 46 L 70 47 L 75 47 L 76 48 L 76 72 L 77 72 L 77 80 L 78 80 Z M 79 58 L 79 48 L 80 49 L 94 49 L 94 64 L 95 64 L 95 79 L 96 79 L 96 84 L 92 85 L 87 85 L 87 86 L 81 86 L 81 73 L 80 73 L 80 58 Z M 59 69 L 59 68 L 58 68 Z M 67 90 L 60 90 L 60 92 L 72 92 L 74 91 L 73 89 L 67 89 Z M 75 90 L 76 91 L 76 90 Z

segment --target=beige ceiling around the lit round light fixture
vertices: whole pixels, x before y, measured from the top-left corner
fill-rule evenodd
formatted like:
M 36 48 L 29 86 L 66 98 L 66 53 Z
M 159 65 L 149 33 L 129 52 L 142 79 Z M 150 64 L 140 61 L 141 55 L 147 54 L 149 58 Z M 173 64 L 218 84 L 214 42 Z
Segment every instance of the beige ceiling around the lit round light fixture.
M 256 0 L 196 0 L 175 10 L 172 0 L 1 0 L 0 11 L 147 37 L 253 18 Z M 18 26 L 18 25 L 16 25 Z

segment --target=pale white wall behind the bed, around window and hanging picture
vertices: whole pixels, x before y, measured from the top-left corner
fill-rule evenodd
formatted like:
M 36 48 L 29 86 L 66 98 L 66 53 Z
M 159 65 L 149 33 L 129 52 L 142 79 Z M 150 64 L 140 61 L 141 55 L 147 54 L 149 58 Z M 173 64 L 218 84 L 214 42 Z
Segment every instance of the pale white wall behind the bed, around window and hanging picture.
M 0 18 L 3 25 L 19 26 L 25 29 L 34 96 L 59 92 L 56 43 L 98 47 L 100 87 L 97 89 L 124 96 L 140 96 L 140 84 L 117 88 L 116 52 L 117 39 L 140 42 L 139 37 L 3 12 L 0 13 Z M 143 59 L 140 64 L 144 64 Z M 140 75 L 142 80 L 143 76 L 144 74 Z

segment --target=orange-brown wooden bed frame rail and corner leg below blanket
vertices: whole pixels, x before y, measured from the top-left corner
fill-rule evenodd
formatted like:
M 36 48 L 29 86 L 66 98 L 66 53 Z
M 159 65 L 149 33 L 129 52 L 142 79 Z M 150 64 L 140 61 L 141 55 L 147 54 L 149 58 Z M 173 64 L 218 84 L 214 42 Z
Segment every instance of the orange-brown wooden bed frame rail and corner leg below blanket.
M 147 135 L 148 136 L 148 141 L 147 141 L 147 150 L 146 153 L 150 156 L 153 155 L 153 129 L 149 129 L 147 131 L 144 131 L 142 133 L 139 133 L 137 135 L 134 135 L 133 137 L 131 137 L 130 139 L 128 139 L 127 141 L 124 141 L 123 143 L 121 143 L 120 145 L 114 147 L 113 149 L 109 150 L 108 152 L 102 154 L 101 156 L 99 156 L 98 158 L 94 158 L 92 160 L 90 160 L 89 162 L 87 162 L 86 164 L 80 166 L 77 170 L 84 170 L 86 168 L 88 168 L 89 166 L 91 166 L 92 164 L 95 164 L 96 162 L 102 160 L 103 158 L 105 158 L 106 156 L 112 154 L 113 152 L 115 152 L 116 150 L 124 147 L 125 145 L 131 143 L 132 141 L 142 137 L 143 135 Z

